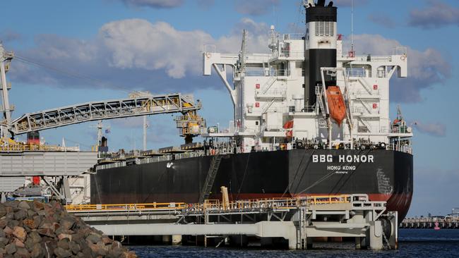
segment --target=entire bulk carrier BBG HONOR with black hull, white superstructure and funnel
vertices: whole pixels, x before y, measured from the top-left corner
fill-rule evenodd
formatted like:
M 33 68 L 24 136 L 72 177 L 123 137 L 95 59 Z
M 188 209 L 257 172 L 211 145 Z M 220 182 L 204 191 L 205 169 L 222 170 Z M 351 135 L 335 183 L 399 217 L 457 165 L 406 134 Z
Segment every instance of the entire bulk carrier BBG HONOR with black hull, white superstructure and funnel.
M 101 159 L 91 202 L 196 203 L 220 199 L 222 186 L 233 200 L 364 193 L 401 221 L 413 191 L 412 131 L 400 109 L 389 118 L 389 80 L 407 77 L 406 49 L 343 52 L 333 2 L 304 7 L 306 33 L 272 26 L 269 54 L 248 54 L 246 32 L 239 54 L 206 46 L 203 74 L 214 70 L 234 105 L 229 128 L 177 119 L 205 141 Z

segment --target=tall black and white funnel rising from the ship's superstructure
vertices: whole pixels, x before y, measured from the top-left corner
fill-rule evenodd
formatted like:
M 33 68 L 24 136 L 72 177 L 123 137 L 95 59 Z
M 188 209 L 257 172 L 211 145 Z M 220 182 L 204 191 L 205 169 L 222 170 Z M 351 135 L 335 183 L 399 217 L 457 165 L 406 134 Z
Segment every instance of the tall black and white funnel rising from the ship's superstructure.
M 306 6 L 306 37 L 304 39 L 304 106 L 312 111 L 316 104 L 316 86 L 322 85 L 321 67 L 336 67 L 337 8 Z M 326 87 L 336 85 L 335 78 L 325 77 Z

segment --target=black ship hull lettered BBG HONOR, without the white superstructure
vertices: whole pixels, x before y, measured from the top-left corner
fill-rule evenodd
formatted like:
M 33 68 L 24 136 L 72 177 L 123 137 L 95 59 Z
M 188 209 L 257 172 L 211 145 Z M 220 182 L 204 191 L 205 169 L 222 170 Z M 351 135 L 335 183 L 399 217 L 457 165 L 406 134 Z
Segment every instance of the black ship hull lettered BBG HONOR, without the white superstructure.
M 98 204 L 196 203 L 213 156 L 100 169 L 91 176 L 91 202 Z M 294 149 L 227 154 L 209 199 L 220 187 L 230 199 L 301 195 L 368 194 L 387 201 L 403 219 L 413 191 L 411 154 L 374 150 Z M 400 220 L 401 221 L 401 220 Z

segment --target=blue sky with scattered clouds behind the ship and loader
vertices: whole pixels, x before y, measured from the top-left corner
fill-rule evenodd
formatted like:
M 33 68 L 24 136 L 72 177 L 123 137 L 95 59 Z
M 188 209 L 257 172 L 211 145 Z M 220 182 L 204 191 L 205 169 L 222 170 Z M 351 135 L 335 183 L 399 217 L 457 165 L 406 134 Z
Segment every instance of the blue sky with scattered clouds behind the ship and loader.
M 193 93 L 203 100 L 208 125 L 226 126 L 232 104 L 218 78 L 201 76 L 203 44 L 238 51 L 243 29 L 249 51 L 267 51 L 270 25 L 303 32 L 297 0 L 8 1 L 0 39 L 18 56 L 87 78 L 13 61 L 13 117 L 68 104 L 126 97 L 132 90 Z M 390 4 L 389 4 L 390 3 Z M 395 4 L 396 3 L 396 4 Z M 335 1 L 338 31 L 350 35 L 350 0 Z M 395 80 L 391 111 L 400 105 L 415 126 L 415 197 L 409 215 L 446 214 L 459 207 L 459 2 L 457 0 L 354 1 L 359 54 L 389 54 L 408 47 L 410 78 Z M 347 37 L 348 39 L 349 37 Z M 382 53 L 380 53 L 382 52 Z M 182 140 L 170 115 L 149 118 L 148 147 Z M 95 143 L 95 123 L 42 132 L 47 142 Z M 105 121 L 112 150 L 141 147 L 141 119 Z

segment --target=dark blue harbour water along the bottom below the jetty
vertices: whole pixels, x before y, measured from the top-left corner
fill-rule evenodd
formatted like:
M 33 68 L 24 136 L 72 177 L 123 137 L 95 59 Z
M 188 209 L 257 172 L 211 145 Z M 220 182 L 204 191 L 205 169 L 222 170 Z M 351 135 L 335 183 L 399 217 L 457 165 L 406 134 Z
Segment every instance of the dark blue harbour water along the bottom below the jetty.
M 314 250 L 261 250 L 195 246 L 131 246 L 138 257 L 456 257 L 459 230 L 400 229 L 398 250 L 354 250 L 352 242 L 314 243 Z

